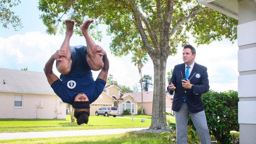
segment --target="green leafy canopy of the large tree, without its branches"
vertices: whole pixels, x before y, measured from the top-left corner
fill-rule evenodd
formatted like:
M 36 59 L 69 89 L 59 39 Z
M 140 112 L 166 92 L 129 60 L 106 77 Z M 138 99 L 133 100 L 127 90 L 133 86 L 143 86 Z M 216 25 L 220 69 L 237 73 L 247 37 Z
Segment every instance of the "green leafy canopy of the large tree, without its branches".
M 161 1 L 161 18 L 157 17 L 156 1 L 134 1 L 136 7 L 146 17 L 152 31 L 155 33 L 155 38 L 159 45 L 163 42 L 160 40 L 161 24 L 164 19 L 166 10 L 166 1 Z M 172 28 L 185 19 L 189 14 L 202 8 L 196 0 L 181 1 L 175 0 L 173 7 Z M 38 9 L 43 12 L 40 16 L 43 23 L 47 26 L 48 34 L 56 34 L 60 28 L 63 28 L 63 22 L 66 18 L 74 19 L 75 27 L 81 25 L 85 19 L 93 18 L 98 24 L 108 25 L 108 35 L 112 35 L 110 49 L 116 56 L 127 55 L 130 51 L 136 51 L 136 46 L 143 46 L 142 37 L 138 31 L 138 25 L 135 22 L 134 10 L 127 1 L 105 1 L 105 0 L 40 0 Z M 102 39 L 101 30 L 97 25 L 91 26 L 91 34 L 97 40 Z M 195 38 L 195 42 L 199 44 L 210 44 L 214 40 L 222 40 L 223 36 L 231 41 L 234 41 L 236 36 L 236 26 L 238 21 L 223 15 L 214 10 L 203 10 L 192 18 L 186 20 L 180 25 L 175 33 L 169 37 L 169 48 L 165 49 L 164 53 L 173 56 L 177 53 L 178 44 L 185 45 L 191 34 Z M 148 36 L 145 24 L 142 23 L 146 38 L 150 42 L 151 48 L 152 39 Z M 64 26 L 65 27 L 65 26 Z M 61 31 L 61 29 L 60 29 Z M 74 33 L 81 34 L 78 30 Z M 144 45 L 145 46 L 145 45 Z M 144 49 L 144 48 L 143 48 Z M 153 49 L 153 48 L 152 48 Z M 146 49 L 144 49 L 146 50 Z

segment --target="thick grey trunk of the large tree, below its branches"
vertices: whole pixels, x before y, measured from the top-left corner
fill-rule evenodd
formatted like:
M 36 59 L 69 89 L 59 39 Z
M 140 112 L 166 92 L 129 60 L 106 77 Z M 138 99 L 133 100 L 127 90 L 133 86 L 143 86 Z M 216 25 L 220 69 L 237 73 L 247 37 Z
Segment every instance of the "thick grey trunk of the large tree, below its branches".
M 152 58 L 152 61 L 154 65 L 154 92 L 152 120 L 149 129 L 162 129 L 167 125 L 166 116 L 163 114 L 166 111 L 165 73 L 167 56 Z

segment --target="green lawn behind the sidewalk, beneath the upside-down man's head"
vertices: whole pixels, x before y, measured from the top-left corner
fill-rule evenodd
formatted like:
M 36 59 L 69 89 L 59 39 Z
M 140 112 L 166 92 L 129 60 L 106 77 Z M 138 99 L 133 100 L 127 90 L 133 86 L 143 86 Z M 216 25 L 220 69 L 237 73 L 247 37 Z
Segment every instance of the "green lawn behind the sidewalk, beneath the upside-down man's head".
M 66 119 L 0 119 L 0 133 L 28 131 L 58 131 L 58 130 L 87 130 L 87 129 L 116 129 L 149 127 L 151 120 L 141 122 L 140 119 L 114 118 L 112 116 L 90 116 L 88 124 L 78 126 L 71 122 L 70 115 Z

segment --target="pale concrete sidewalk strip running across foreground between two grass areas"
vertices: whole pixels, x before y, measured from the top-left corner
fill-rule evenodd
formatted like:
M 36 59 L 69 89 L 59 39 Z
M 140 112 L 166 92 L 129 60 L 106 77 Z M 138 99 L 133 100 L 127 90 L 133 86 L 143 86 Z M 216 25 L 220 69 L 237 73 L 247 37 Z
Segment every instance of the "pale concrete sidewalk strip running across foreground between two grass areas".
M 138 131 L 143 129 L 148 129 L 148 127 L 129 128 L 129 129 L 10 132 L 10 133 L 0 133 L 0 140 L 22 139 L 22 138 L 63 137 L 63 136 L 114 135 L 114 134 L 122 134 L 129 131 Z

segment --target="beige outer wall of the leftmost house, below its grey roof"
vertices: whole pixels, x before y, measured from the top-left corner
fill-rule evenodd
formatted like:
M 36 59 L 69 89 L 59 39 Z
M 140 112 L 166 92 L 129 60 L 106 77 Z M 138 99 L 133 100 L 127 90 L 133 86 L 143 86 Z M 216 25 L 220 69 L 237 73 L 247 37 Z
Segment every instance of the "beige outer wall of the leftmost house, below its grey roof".
M 14 108 L 14 95 L 23 96 L 22 108 Z M 0 92 L 0 118 L 66 119 L 66 104 L 61 102 L 57 95 Z

